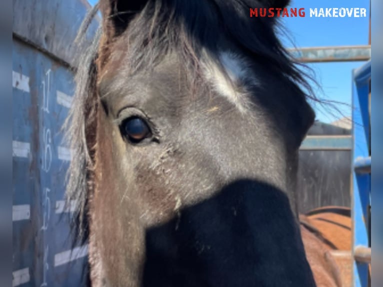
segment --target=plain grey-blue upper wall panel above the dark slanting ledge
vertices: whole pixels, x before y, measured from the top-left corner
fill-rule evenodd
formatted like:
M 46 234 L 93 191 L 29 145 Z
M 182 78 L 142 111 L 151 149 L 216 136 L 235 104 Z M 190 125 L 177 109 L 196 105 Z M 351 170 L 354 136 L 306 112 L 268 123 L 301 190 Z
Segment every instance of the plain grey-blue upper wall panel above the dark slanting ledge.
M 13 0 L 12 38 L 33 46 L 59 59 L 65 66 L 74 66 L 77 30 L 91 5 L 86 0 Z M 45 16 L 40 16 L 45 15 Z M 89 43 L 100 22 L 96 15 L 88 28 Z

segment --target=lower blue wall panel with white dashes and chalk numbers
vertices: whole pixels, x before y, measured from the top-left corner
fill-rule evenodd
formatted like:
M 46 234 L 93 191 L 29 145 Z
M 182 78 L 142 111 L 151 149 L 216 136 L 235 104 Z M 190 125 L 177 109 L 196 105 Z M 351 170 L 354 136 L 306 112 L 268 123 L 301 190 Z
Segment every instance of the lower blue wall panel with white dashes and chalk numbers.
M 59 221 L 65 210 L 56 208 L 70 160 L 61 127 L 73 74 L 17 39 L 12 60 L 13 285 L 79 286 L 86 252 L 71 256 L 68 216 Z

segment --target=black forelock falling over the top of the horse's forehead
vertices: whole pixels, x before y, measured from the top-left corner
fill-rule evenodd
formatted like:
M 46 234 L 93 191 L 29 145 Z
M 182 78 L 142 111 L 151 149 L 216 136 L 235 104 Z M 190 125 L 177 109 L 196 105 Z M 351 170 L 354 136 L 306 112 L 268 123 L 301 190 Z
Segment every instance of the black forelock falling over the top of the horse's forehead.
M 270 69 L 292 84 L 304 87 L 306 96 L 316 100 L 305 80 L 307 74 L 298 69 L 297 65 L 301 64 L 289 56 L 276 36 L 276 30 L 282 29 L 281 24 L 275 23 L 275 19 L 249 17 L 249 7 L 262 6 L 263 2 L 156 0 L 147 1 L 135 14 L 132 11 L 106 9 L 108 14 L 103 15 L 102 26 L 108 30 L 104 31 L 99 47 L 99 76 L 102 76 L 103 67 L 111 55 L 118 62 L 122 60 L 122 55 L 127 54 L 123 65 L 129 66 L 131 73 L 134 73 L 140 68 L 155 66 L 173 51 L 188 65 L 190 78 L 195 79 L 196 73 L 201 72 L 199 67 L 204 50 L 208 50 L 209 55 L 220 63 L 227 64 L 221 55 L 225 51 L 226 55 L 232 55 L 230 50 L 234 49 L 237 53 L 239 51 L 240 56 L 249 58 L 250 62 L 267 63 Z M 113 27 L 111 19 L 124 14 L 129 14 L 126 27 Z

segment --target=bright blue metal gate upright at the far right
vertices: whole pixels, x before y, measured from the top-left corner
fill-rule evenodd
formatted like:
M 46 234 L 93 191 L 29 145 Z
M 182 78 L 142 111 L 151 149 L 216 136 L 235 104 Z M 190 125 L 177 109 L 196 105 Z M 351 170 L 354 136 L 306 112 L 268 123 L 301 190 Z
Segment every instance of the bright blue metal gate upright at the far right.
M 369 154 L 369 113 L 368 91 L 370 78 L 370 63 L 353 71 L 352 83 L 352 136 L 354 166 L 352 172 L 352 224 L 353 248 L 357 245 L 368 246 L 368 207 L 370 205 L 370 166 Z M 368 264 L 356 262 L 353 264 L 354 286 L 368 286 Z

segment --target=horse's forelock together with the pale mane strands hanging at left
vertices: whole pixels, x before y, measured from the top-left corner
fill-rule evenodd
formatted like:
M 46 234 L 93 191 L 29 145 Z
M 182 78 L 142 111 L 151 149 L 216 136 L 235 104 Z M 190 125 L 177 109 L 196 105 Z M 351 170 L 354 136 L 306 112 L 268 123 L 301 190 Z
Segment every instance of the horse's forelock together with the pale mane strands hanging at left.
M 260 5 L 259 1 L 253 2 Z M 109 27 L 107 25 L 98 28 L 92 43 L 79 54 L 75 97 L 66 122 L 74 152 L 68 171 L 67 197 L 77 202 L 73 224 L 77 239 L 86 241 L 88 236 L 88 199 L 93 184 L 95 115 L 99 100 L 96 85 L 118 54 L 128 55 L 123 65 L 129 66 L 133 73 L 154 67 L 166 54 L 175 52 L 192 80 L 206 76 L 203 67 L 209 65 L 209 61 L 211 65 L 215 62 L 225 72 L 226 79 L 234 84 L 252 77 L 250 69 L 240 68 L 244 63 L 262 61 L 290 82 L 297 96 L 316 100 L 305 75 L 277 39 L 272 20 L 249 18 L 248 7 L 248 1 L 234 0 L 148 1 L 118 34 L 102 31 Z M 89 11 L 79 30 L 79 39 L 85 38 L 87 25 L 97 9 L 98 5 Z M 117 14 L 108 17 L 115 16 Z M 102 21 L 106 21 L 105 15 Z M 232 46 L 225 46 L 227 42 Z M 235 53 L 231 52 L 233 48 Z M 207 58 L 203 51 L 208 51 Z M 227 81 L 220 81 L 223 77 L 219 73 L 209 75 L 217 89 L 226 90 Z M 304 94 L 299 86 L 309 93 Z M 243 104 L 232 94 L 226 96 L 238 106 Z

